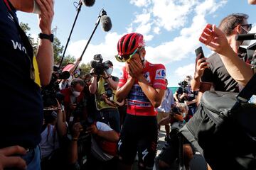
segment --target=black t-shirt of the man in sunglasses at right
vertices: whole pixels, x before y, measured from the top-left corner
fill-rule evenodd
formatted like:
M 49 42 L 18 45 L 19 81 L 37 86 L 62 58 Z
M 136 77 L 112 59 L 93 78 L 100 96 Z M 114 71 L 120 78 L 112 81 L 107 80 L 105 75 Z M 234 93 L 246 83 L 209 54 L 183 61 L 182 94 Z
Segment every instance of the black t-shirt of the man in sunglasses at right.
M 207 62 L 209 68 L 203 72 L 201 81 L 213 83 L 215 91 L 239 91 L 238 82 L 230 76 L 217 53 L 210 55 Z

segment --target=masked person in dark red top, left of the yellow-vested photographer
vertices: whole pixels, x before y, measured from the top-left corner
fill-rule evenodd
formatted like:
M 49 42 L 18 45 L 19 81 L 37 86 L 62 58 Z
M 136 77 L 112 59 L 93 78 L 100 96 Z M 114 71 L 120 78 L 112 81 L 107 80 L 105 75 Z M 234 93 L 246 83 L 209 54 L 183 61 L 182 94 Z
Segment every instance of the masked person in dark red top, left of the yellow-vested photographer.
M 64 106 L 66 113 L 66 121 L 73 123 L 74 118 L 85 118 L 85 101 L 84 94 L 81 91 L 84 89 L 85 82 L 82 79 L 73 79 L 71 86 L 68 89 L 63 89 L 60 92 L 64 95 Z M 75 115 L 77 109 L 82 109 L 82 115 Z M 76 121 L 75 121 L 76 122 Z

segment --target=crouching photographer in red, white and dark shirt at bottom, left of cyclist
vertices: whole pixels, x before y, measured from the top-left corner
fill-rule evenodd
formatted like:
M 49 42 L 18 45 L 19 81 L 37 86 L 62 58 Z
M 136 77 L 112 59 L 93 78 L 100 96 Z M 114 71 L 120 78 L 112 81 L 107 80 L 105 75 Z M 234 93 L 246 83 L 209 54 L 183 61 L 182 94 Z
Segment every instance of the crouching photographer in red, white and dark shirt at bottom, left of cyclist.
M 79 157 L 81 150 L 78 144 L 81 133 L 92 135 L 90 151 L 87 151 L 86 156 L 83 155 L 82 158 Z M 115 169 L 117 162 L 114 156 L 117 151 L 118 139 L 118 133 L 105 123 L 95 122 L 92 125 L 75 123 L 70 146 L 70 163 L 77 164 L 78 162 L 80 169 Z M 83 161 L 81 162 L 80 159 Z

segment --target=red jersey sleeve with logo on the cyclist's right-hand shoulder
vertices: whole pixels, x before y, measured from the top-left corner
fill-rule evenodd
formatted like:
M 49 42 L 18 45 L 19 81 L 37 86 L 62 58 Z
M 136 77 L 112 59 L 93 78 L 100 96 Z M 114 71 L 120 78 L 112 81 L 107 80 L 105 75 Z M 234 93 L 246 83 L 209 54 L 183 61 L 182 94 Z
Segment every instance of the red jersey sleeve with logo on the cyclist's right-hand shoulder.
M 166 69 L 163 64 L 155 64 L 155 77 L 153 87 L 155 89 L 166 89 Z

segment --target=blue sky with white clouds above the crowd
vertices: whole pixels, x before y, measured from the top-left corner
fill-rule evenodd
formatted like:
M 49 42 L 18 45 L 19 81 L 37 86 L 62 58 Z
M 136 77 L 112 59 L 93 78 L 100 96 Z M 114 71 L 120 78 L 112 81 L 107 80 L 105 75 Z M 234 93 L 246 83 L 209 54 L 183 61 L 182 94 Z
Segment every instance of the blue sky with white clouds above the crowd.
M 55 0 L 52 28 L 64 47 L 78 13 L 75 8 L 78 2 Z M 119 77 L 124 63 L 114 58 L 117 41 L 127 33 L 142 33 L 146 42 L 145 59 L 164 64 L 169 86 L 178 86 L 186 75 L 193 76 L 197 47 L 202 46 L 206 56 L 212 53 L 198 41 L 207 23 L 218 26 L 230 13 L 246 13 L 248 23 L 253 25 L 250 33 L 256 32 L 256 6 L 247 4 L 247 0 L 95 0 L 91 7 L 82 6 L 65 55 L 80 57 L 102 8 L 111 18 L 112 29 L 104 32 L 100 25 L 97 27 L 82 62 L 89 63 L 94 55 L 101 54 L 103 62 L 113 62 L 112 75 Z M 36 14 L 18 12 L 18 18 L 28 23 L 33 37 L 41 32 Z

